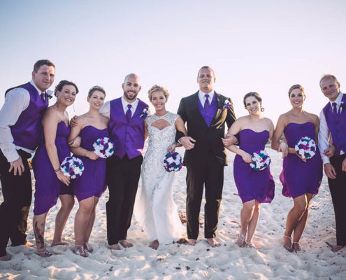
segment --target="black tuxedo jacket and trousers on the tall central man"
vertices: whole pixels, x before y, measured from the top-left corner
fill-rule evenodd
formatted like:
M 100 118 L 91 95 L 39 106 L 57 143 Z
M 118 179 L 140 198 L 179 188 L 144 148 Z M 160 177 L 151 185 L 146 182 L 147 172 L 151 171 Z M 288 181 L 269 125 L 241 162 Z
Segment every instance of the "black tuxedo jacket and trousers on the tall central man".
M 199 210 L 206 188 L 205 237 L 215 237 L 219 205 L 224 184 L 224 166 L 227 165 L 226 151 L 222 144 L 225 123 L 231 127 L 236 120 L 231 99 L 216 94 L 217 112 L 208 127 L 199 111 L 199 92 L 181 100 L 178 114 L 187 123 L 187 135 L 196 140 L 192 150 L 185 151 L 184 165 L 187 167 L 187 236 L 197 239 L 199 235 Z M 226 109 L 225 102 L 230 108 Z M 179 135 L 177 134 L 177 140 Z

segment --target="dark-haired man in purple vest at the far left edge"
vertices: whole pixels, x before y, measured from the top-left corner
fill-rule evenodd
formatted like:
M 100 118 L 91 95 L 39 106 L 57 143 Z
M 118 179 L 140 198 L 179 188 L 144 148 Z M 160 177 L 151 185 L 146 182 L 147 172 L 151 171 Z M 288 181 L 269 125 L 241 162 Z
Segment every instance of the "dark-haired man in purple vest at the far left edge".
M 48 106 L 46 90 L 54 82 L 55 65 L 49 60 L 34 64 L 32 80 L 7 90 L 0 110 L 0 260 L 8 239 L 12 246 L 27 244 L 27 217 L 31 204 L 31 174 L 27 160 L 42 137 L 42 116 Z

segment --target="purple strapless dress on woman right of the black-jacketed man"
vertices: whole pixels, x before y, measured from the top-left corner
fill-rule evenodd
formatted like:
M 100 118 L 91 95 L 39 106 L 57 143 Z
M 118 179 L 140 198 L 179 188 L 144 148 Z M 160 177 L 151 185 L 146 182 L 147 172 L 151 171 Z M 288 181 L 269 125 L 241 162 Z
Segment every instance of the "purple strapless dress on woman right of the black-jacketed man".
M 264 150 L 269 139 L 268 130 L 254 132 L 250 129 L 240 131 L 240 148 L 252 155 L 256 151 Z M 256 171 L 246 163 L 240 155 L 236 155 L 233 163 L 234 181 L 238 194 L 243 203 L 257 200 L 260 203 L 270 203 L 274 198 L 275 183 L 271 176 L 271 169 Z

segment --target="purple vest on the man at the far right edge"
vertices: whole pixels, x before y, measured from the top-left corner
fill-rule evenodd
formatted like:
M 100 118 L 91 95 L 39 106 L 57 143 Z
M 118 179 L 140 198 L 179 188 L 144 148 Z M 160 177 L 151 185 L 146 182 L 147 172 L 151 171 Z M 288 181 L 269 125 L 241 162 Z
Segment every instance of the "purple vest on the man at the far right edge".
M 330 102 L 324 106 L 323 113 L 331 132 L 331 139 L 336 146 L 336 155 L 340 155 L 340 151 L 346 153 L 346 94 L 343 94 L 336 117 L 333 115 Z

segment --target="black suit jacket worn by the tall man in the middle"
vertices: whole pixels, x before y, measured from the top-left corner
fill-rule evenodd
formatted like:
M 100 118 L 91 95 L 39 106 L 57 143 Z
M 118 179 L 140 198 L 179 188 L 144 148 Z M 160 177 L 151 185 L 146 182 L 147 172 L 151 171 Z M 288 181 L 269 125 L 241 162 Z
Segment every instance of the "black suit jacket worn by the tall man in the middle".
M 225 123 L 227 127 L 236 120 L 231 99 L 215 92 L 217 98 L 217 112 L 210 127 L 206 124 L 201 112 L 199 111 L 199 92 L 185 97 L 180 101 L 178 115 L 184 123 L 187 123 L 187 135 L 196 140 L 192 150 L 185 151 L 184 165 L 195 166 L 203 165 L 207 160 L 208 151 L 212 151 L 219 163 L 227 165 L 226 151 L 222 144 L 224 137 Z M 230 104 L 229 109 L 225 109 L 225 101 Z M 177 134 L 177 141 L 181 135 Z

